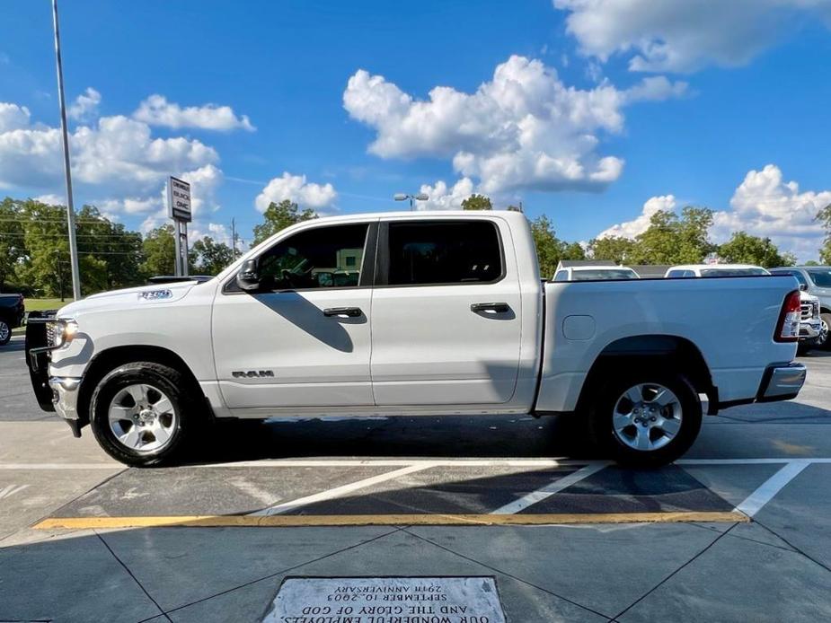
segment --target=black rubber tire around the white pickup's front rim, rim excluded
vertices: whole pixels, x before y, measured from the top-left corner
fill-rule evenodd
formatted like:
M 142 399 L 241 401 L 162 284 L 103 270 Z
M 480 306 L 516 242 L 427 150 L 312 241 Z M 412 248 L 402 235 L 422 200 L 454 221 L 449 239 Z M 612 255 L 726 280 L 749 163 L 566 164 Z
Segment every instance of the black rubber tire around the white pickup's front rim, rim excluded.
M 112 399 L 120 390 L 138 383 L 163 392 L 172 404 L 175 415 L 172 433 L 164 447 L 158 450 L 128 448 L 111 430 L 109 410 Z M 90 426 L 95 439 L 113 459 L 132 467 L 157 467 L 181 461 L 195 434 L 193 429 L 198 426 L 199 414 L 193 410 L 204 403 L 191 384 L 181 372 L 167 365 L 153 362 L 119 365 L 102 378 L 90 400 Z

